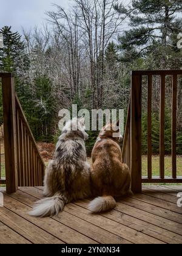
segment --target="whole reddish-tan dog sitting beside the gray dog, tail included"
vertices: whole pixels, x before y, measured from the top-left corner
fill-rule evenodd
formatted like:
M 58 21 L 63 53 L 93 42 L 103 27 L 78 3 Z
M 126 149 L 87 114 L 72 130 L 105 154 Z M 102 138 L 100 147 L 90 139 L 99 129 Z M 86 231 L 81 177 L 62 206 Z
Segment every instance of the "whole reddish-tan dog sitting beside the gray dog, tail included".
M 92 151 L 92 193 L 99 197 L 90 202 L 89 210 L 95 213 L 111 210 L 116 206 L 114 197 L 131 193 L 130 171 L 121 160 L 121 133 L 117 126 L 118 123 L 103 127 Z

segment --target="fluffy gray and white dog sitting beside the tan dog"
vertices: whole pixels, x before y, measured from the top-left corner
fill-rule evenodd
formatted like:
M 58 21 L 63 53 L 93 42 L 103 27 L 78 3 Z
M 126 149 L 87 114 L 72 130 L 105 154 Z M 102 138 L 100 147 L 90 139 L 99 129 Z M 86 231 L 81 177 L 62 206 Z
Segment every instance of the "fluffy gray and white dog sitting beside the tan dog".
M 91 196 L 90 165 L 84 118 L 69 121 L 56 145 L 55 155 L 45 170 L 44 199 L 36 202 L 32 216 L 58 215 L 69 202 Z

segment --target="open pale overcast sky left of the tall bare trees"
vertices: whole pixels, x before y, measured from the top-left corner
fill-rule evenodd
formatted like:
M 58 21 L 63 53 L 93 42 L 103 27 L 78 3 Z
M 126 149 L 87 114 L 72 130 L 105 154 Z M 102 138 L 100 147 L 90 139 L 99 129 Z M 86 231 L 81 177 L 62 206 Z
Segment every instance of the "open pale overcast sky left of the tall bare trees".
M 45 20 L 45 12 L 54 10 L 53 3 L 69 7 L 72 0 L 0 0 L 0 27 L 12 26 L 22 32 L 40 27 Z

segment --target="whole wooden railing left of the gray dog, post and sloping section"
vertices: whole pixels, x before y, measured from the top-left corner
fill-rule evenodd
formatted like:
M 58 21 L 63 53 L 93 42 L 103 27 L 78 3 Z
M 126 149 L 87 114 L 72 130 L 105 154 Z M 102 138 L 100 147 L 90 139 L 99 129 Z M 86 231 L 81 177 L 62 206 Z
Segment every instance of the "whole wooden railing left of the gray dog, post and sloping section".
M 18 186 L 41 186 L 44 161 L 25 118 L 18 97 L 15 95 L 11 73 L 0 73 L 4 122 L 5 184 L 7 193 L 14 193 Z

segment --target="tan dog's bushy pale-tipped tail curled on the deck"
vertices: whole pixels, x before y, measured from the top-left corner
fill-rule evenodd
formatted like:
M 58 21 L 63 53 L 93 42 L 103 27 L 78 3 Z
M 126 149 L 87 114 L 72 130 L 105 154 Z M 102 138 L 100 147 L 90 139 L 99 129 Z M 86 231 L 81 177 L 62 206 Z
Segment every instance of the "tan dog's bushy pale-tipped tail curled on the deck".
M 112 196 L 96 197 L 90 202 L 88 209 L 94 213 L 107 212 L 116 206 L 116 201 Z

